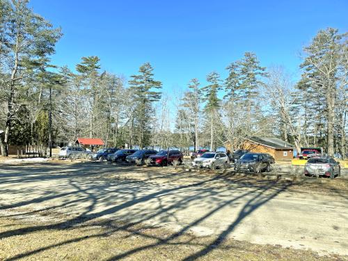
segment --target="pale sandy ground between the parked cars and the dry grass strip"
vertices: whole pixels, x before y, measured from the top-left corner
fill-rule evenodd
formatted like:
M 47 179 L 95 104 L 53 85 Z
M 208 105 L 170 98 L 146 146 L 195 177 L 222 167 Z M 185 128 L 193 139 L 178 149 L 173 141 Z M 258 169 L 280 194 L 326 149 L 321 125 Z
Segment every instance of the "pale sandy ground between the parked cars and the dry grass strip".
M 43 228 L 117 221 L 159 226 L 174 238 L 209 237 L 213 245 L 237 239 L 348 255 L 346 173 L 335 180 L 290 182 L 230 172 L 46 162 L 0 165 L 0 180 L 0 218 L 54 224 L 6 230 L 1 240 Z

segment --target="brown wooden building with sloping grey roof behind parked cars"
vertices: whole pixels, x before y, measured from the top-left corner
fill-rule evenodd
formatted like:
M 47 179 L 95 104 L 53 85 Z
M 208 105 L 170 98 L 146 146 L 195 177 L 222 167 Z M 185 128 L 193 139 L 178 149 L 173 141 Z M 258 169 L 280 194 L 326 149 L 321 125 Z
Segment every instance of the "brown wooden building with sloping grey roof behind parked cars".
M 276 161 L 291 160 L 294 157 L 294 146 L 278 138 L 251 137 L 244 141 L 242 148 L 251 152 L 268 153 Z

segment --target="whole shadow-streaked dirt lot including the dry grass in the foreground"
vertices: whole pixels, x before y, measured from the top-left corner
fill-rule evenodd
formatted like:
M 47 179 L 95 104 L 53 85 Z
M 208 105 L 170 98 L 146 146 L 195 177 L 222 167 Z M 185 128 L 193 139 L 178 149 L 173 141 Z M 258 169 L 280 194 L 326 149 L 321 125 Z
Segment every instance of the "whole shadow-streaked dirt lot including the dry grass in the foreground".
M 348 260 L 348 179 L 0 165 L 0 260 Z

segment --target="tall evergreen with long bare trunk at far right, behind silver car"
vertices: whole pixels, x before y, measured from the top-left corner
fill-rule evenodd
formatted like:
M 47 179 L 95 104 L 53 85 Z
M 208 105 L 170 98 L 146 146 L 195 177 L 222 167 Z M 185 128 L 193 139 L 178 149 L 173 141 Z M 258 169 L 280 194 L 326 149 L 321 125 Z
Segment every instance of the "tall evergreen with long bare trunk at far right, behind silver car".
M 313 89 L 318 97 L 324 98 L 326 148 L 330 156 L 334 153 L 335 106 L 340 84 L 338 74 L 347 66 L 345 56 L 342 55 L 342 45 L 347 45 L 345 36 L 332 28 L 319 31 L 310 45 L 304 47 L 306 58 L 301 64 L 304 70 L 301 81 L 308 84 L 309 90 Z

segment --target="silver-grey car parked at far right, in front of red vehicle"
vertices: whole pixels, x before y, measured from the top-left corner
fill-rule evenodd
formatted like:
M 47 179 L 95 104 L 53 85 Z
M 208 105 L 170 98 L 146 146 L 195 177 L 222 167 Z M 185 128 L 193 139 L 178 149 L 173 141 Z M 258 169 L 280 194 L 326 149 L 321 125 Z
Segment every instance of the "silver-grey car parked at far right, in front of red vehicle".
M 331 157 L 313 157 L 308 159 L 304 167 L 306 176 L 326 176 L 332 179 L 341 175 L 340 162 Z

